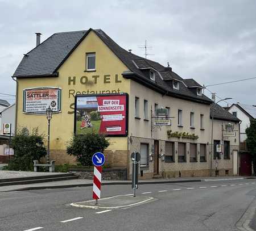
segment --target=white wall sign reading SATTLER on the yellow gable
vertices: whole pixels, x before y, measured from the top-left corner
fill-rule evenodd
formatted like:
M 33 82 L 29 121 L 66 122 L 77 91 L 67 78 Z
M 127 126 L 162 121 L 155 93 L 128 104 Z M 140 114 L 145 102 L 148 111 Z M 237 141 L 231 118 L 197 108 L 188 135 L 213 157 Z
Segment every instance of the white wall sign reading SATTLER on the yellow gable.
M 61 89 L 56 87 L 36 87 L 23 90 L 23 112 L 28 114 L 45 114 L 46 108 L 60 112 Z

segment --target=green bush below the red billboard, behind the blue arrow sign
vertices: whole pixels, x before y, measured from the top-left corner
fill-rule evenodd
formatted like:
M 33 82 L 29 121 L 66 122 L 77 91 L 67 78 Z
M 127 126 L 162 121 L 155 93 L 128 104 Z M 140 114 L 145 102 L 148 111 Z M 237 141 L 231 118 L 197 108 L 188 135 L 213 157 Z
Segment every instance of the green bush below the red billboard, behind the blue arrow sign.
M 82 166 L 92 166 L 92 156 L 96 152 L 104 152 L 108 148 L 109 141 L 105 135 L 86 133 L 75 135 L 67 144 L 67 153 L 76 156 Z

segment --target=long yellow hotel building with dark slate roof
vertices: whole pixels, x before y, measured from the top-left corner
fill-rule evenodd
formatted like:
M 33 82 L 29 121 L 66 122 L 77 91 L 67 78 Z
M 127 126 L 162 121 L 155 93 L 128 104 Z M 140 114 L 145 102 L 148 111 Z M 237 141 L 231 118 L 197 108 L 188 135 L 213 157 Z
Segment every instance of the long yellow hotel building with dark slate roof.
M 112 167 L 126 167 L 130 175 L 130 153 L 136 150 L 142 156 L 144 178 L 209 175 L 210 156 L 218 153 L 210 155 L 213 102 L 203 94 L 203 87 L 193 79 L 181 78 L 170 67 L 126 51 L 104 31 L 53 34 L 24 55 L 13 77 L 17 81 L 17 127 L 39 127 L 47 133 L 44 110 L 49 102 L 56 112 L 51 120 L 50 147 L 50 158 L 56 163 L 75 161 L 66 154 L 79 115 L 75 96 L 126 93 L 127 133 L 110 136 L 105 151 Z M 43 96 L 49 100 L 40 101 Z M 171 119 L 171 125 L 157 125 L 161 121 L 154 117 L 159 108 L 166 108 L 166 123 Z M 223 136 L 222 128 L 231 124 L 235 131 L 239 120 L 220 106 L 215 111 L 214 140 L 223 144 L 218 169 L 220 174 L 232 175 L 238 164 L 233 163 L 233 152 L 238 150 L 239 135 Z M 86 124 L 84 119 L 79 126 L 85 127 L 81 123 Z

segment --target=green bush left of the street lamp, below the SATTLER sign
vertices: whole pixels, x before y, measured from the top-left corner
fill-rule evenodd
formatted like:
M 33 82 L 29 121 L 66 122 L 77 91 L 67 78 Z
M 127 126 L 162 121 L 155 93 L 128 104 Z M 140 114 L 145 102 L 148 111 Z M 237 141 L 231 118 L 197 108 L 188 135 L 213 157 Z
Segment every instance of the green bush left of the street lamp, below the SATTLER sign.
M 11 147 L 14 149 L 14 156 L 10 159 L 9 170 L 32 171 L 33 161 L 46 156 L 44 147 L 44 137 L 39 135 L 38 128 L 32 129 L 31 134 L 28 129 L 22 128 L 11 139 Z

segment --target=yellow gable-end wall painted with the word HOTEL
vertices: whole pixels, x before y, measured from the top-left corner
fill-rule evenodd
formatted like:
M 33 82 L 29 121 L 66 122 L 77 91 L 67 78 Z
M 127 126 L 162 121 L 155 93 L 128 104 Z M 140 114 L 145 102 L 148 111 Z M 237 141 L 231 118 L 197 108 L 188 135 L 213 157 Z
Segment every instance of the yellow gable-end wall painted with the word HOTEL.
M 96 53 L 96 71 L 86 72 L 87 52 Z M 30 87 L 60 87 L 61 113 L 51 120 L 51 150 L 65 150 L 73 135 L 76 94 L 130 93 L 130 80 L 122 77 L 128 68 L 104 42 L 91 31 L 58 70 L 59 77 L 18 79 L 17 128 L 39 127 L 47 134 L 46 115 L 23 113 L 23 90 Z M 98 75 L 98 77 L 95 77 Z M 104 77 L 105 75 L 105 77 Z M 94 76 L 94 77 L 93 77 Z M 104 78 L 107 79 L 104 83 Z M 127 150 L 127 137 L 111 137 L 109 150 Z

